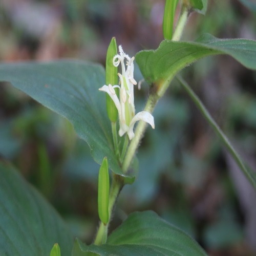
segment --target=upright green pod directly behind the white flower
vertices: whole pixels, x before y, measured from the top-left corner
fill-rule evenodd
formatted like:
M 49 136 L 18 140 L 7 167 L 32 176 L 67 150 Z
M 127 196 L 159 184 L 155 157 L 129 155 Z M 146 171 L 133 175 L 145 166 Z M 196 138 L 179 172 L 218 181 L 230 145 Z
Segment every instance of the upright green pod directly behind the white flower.
M 118 84 L 118 70 L 117 67 L 113 65 L 113 58 L 117 55 L 117 46 L 116 46 L 116 38 L 113 37 L 108 51 L 106 52 L 106 85 L 108 86 L 111 84 L 112 86 L 115 86 Z M 118 95 L 118 89 L 114 89 L 116 94 Z M 111 99 L 111 97 L 106 94 L 106 111 L 108 112 L 109 119 L 111 122 L 115 123 L 117 121 L 117 108 L 115 106 L 115 103 Z

